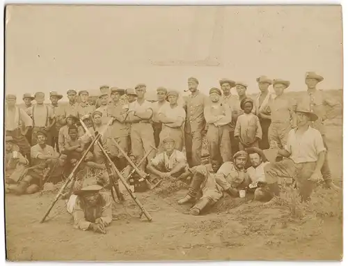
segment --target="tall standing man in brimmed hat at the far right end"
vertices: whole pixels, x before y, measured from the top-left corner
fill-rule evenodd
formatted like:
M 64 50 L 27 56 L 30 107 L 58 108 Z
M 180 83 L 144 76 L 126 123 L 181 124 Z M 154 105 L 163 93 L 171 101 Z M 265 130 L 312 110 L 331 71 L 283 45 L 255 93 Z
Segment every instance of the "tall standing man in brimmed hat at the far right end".
M 314 114 L 318 116 L 318 119 L 314 122 L 311 122 L 310 126 L 315 128 L 320 132 L 320 134 L 322 134 L 324 146 L 327 150 L 324 121 L 328 118 L 333 118 L 341 114 L 342 107 L 339 102 L 333 100 L 332 97 L 317 89 L 317 84 L 319 84 L 319 82 L 323 80 L 324 77 L 317 75 L 315 72 L 307 72 L 305 79 L 307 85 L 307 93 L 303 95 L 303 97 L 301 97 L 298 104 L 308 107 L 310 111 L 313 111 Z M 326 186 L 338 191 L 340 188 L 333 184 L 331 177 L 331 170 L 329 167 L 327 152 L 325 154 L 325 160 L 321 171 Z

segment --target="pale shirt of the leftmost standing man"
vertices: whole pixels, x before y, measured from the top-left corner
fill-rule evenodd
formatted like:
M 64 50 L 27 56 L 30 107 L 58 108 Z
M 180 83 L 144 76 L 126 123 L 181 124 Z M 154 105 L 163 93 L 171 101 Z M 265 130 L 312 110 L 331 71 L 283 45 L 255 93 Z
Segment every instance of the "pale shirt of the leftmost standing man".
M 21 127 L 33 126 L 33 120 L 26 114 L 26 111 L 15 107 L 14 109 L 8 109 L 6 107 L 6 130 L 17 130 Z

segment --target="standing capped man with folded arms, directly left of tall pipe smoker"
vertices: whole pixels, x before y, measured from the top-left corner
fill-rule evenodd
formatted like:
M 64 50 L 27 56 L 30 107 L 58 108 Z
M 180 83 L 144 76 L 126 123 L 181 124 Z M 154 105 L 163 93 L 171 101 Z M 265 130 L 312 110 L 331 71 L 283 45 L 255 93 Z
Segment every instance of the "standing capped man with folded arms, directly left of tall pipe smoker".
M 158 112 L 159 122 L 162 123 L 162 130 L 159 134 L 159 151 L 164 150 L 163 140 L 171 137 L 175 140 L 175 150 L 181 152 L 184 146 L 185 110 L 177 105 L 177 98 L 179 97 L 177 91 L 169 91 L 167 97 L 168 104 L 161 107 Z

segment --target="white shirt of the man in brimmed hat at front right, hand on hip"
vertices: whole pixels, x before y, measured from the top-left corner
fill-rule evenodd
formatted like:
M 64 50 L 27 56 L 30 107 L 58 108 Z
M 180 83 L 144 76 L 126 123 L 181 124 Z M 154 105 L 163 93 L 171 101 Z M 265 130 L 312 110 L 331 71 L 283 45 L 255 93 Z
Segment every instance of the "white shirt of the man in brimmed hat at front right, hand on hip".
M 320 152 L 326 150 L 322 134 L 313 127 L 299 135 L 296 129 L 292 129 L 287 136 L 285 150 L 290 152 L 290 159 L 296 164 L 303 162 L 317 162 Z

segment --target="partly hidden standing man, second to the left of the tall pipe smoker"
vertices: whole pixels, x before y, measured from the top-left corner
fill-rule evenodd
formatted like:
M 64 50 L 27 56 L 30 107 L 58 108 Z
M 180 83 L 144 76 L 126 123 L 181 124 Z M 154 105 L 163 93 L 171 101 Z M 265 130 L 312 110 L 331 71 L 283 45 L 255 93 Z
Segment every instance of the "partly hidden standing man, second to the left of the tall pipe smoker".
M 168 91 L 166 88 L 164 87 L 157 88 L 157 102 L 153 103 L 154 114 L 152 116 L 152 127 L 154 131 L 156 148 L 158 148 L 159 146 L 159 134 L 161 133 L 161 130 L 162 130 L 162 123 L 159 122 L 158 114 L 162 107 L 169 105 L 169 103 L 166 101 L 167 93 Z

